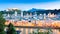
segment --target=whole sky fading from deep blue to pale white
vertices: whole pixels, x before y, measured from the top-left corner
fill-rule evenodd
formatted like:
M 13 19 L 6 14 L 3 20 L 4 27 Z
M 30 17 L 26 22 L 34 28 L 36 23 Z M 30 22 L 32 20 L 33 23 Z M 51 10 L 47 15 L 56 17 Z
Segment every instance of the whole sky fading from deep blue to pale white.
M 0 10 L 19 8 L 21 10 L 60 9 L 60 0 L 0 0 Z

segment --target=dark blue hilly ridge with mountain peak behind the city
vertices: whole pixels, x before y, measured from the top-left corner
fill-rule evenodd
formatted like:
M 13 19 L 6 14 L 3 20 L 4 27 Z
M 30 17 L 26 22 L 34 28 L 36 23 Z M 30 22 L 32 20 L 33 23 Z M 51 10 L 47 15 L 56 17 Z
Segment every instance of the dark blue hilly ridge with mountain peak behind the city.
M 2 12 L 3 14 L 5 14 L 5 13 L 12 13 L 12 14 L 14 14 L 15 13 L 15 11 L 17 11 L 17 13 L 18 14 L 20 14 L 21 13 L 21 11 L 22 10 L 20 10 L 20 9 L 10 9 L 10 11 L 7 11 L 7 10 L 4 10 L 4 11 L 0 11 L 0 12 Z M 51 13 L 51 14 L 60 14 L 60 9 L 59 10 L 57 10 L 57 9 L 54 9 L 54 10 L 45 10 L 45 9 L 36 9 L 36 8 L 32 8 L 32 9 L 29 9 L 29 10 L 27 10 L 27 11 L 23 11 L 24 12 L 24 14 L 27 14 L 27 13 L 32 13 L 32 14 L 34 14 L 35 12 L 37 13 L 37 14 L 44 14 L 44 13 L 46 13 L 46 14 L 48 14 L 48 13 Z

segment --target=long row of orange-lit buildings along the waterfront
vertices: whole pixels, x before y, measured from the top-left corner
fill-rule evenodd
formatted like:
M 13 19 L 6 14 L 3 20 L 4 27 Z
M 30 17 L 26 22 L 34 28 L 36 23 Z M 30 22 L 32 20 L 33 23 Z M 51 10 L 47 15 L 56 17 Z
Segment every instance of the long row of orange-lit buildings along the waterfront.
M 5 25 L 8 25 L 10 21 L 6 21 Z M 37 22 L 37 24 L 33 22 L 27 22 L 27 21 L 18 21 L 18 22 L 11 22 L 14 26 L 45 26 L 45 27 L 60 27 L 59 22 L 53 22 L 53 23 L 42 23 L 40 21 Z

